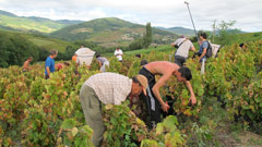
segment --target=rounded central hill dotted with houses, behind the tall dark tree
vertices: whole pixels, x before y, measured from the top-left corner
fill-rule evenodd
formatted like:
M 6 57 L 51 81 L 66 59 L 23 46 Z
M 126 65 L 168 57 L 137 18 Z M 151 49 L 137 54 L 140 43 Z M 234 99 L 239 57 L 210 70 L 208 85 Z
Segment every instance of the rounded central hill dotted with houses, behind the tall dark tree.
M 156 44 L 171 42 L 178 37 L 174 33 L 158 28 L 153 28 L 152 33 L 153 40 Z M 133 24 L 117 17 L 105 17 L 70 25 L 50 35 L 69 41 L 86 40 L 105 47 L 114 47 L 127 46 L 144 34 L 144 25 Z

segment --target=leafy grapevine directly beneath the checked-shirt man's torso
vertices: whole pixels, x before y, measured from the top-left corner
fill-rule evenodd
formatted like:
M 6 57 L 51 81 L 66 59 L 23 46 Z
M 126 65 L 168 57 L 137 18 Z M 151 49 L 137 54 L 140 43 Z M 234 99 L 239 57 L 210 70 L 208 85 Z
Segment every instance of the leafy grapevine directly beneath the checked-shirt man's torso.
M 143 121 L 138 119 L 130 111 L 128 102 L 121 106 L 107 105 L 103 112 L 105 113 L 105 125 L 107 131 L 104 134 L 104 144 L 107 146 L 138 146 L 146 137 L 146 126 Z

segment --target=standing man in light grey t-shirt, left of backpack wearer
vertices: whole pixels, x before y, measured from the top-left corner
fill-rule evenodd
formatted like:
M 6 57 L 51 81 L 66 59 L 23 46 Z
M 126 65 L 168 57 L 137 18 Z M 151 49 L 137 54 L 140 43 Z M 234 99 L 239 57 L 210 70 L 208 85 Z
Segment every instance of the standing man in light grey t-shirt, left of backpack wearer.
M 188 59 L 189 50 L 195 51 L 195 48 L 191 40 L 189 40 L 183 35 L 181 35 L 180 38 L 171 44 L 171 46 L 178 48 L 175 53 L 175 63 L 177 63 L 179 66 L 182 66 Z

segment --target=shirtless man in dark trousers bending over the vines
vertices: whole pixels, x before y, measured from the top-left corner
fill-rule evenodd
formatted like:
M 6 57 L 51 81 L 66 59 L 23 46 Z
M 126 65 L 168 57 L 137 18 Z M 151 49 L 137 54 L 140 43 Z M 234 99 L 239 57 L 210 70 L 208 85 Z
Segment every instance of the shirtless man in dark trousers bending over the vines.
M 188 87 L 191 97 L 190 101 L 192 105 L 196 102 L 190 79 L 192 78 L 191 71 L 188 68 L 180 68 L 178 64 L 168 61 L 155 61 L 144 65 L 139 74 L 144 75 L 148 81 L 148 87 L 146 88 L 147 96 L 141 94 L 141 98 L 146 103 L 147 113 L 150 115 L 150 128 L 155 127 L 160 122 L 160 109 L 164 112 L 168 111 L 168 103 L 162 99 L 159 88 L 163 87 L 166 82 L 175 75 L 179 82 L 183 82 Z M 155 75 L 162 75 L 159 81 L 156 82 Z M 145 121 L 145 120 L 144 120 Z

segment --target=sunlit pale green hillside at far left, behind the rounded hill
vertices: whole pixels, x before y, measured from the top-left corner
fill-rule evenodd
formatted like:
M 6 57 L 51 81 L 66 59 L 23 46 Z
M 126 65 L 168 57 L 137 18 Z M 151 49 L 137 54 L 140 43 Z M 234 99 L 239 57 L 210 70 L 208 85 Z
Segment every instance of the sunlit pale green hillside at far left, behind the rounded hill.
M 82 21 L 52 21 L 44 17 L 36 16 L 17 16 L 10 12 L 0 10 L 0 25 L 8 28 L 13 28 L 23 32 L 40 32 L 51 33 L 64 26 L 82 23 Z M 3 28 L 2 27 L 2 28 Z

